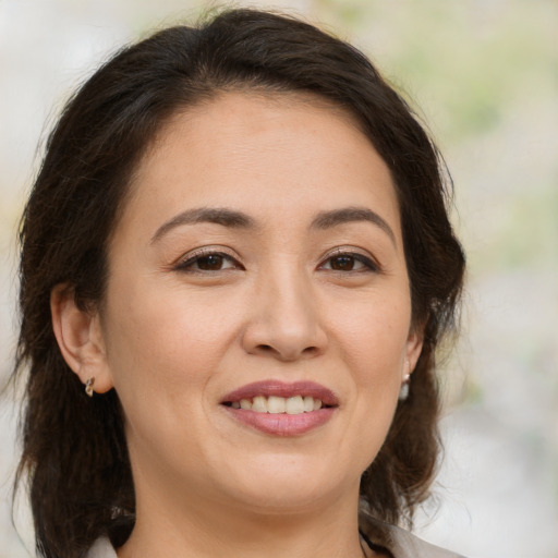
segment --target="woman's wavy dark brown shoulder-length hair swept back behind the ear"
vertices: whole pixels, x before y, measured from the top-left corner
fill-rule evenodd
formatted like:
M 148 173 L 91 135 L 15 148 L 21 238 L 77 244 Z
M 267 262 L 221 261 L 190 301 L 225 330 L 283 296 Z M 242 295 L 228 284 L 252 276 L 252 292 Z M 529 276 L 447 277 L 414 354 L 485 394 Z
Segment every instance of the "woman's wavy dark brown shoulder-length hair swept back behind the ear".
M 447 216 L 440 157 L 404 100 L 355 48 L 302 21 L 225 11 L 117 53 L 74 95 L 51 132 L 21 223 L 21 332 L 14 377 L 28 372 L 19 480 L 26 474 L 41 556 L 81 556 L 129 535 L 134 487 L 114 390 L 88 399 L 51 325 L 52 288 L 82 308 L 102 300 L 107 242 L 133 172 L 179 110 L 231 89 L 306 92 L 360 123 L 400 203 L 413 323 L 424 348 L 410 396 L 364 473 L 371 513 L 398 522 L 428 492 L 438 454 L 435 349 L 454 322 L 464 258 Z

